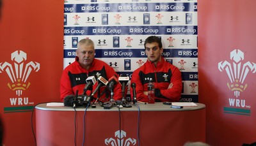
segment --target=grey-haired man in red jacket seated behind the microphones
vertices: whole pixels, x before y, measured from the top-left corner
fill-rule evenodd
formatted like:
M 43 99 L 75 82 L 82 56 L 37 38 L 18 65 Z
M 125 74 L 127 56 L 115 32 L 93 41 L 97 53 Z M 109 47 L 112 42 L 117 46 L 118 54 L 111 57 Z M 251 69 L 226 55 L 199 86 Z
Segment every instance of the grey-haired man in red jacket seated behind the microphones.
M 78 92 L 79 95 L 84 94 L 84 87 L 86 85 L 86 78 L 96 76 L 99 78 L 100 76 L 109 80 L 111 77 L 116 77 L 118 81 L 118 74 L 115 72 L 111 66 L 106 64 L 104 61 L 100 61 L 99 59 L 95 59 L 95 48 L 94 43 L 90 39 L 80 40 L 77 44 L 76 50 L 76 61 L 72 62 L 72 64 L 68 65 L 62 73 L 60 80 L 60 94 L 61 101 L 64 100 L 66 96 L 75 95 Z M 95 91 L 97 87 L 97 83 L 92 86 L 92 89 L 88 88 L 85 94 L 90 96 L 93 91 Z M 104 91 L 104 87 L 100 87 L 100 93 Z M 107 90 L 108 91 L 108 90 Z M 120 100 L 122 98 L 122 85 L 119 82 L 116 82 L 115 87 L 113 88 L 113 99 Z M 106 95 L 100 99 L 103 99 Z M 98 92 L 95 92 L 93 95 L 94 98 L 98 97 Z M 110 99 L 110 94 L 109 94 Z M 107 101 L 109 100 L 107 99 Z

